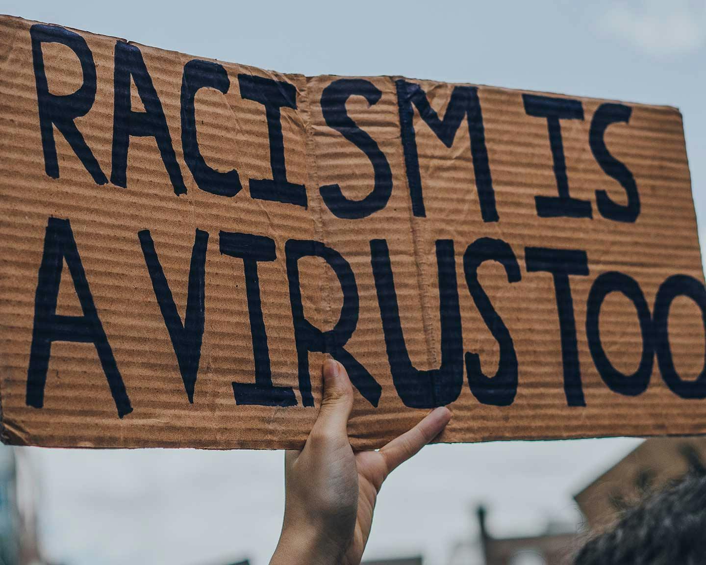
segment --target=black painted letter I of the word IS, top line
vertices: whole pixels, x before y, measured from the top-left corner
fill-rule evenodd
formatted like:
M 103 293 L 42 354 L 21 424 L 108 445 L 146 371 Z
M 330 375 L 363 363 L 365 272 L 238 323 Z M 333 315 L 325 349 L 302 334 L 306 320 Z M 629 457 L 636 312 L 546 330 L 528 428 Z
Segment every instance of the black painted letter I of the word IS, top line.
M 566 157 L 561 141 L 560 119 L 583 119 L 583 106 L 580 100 L 552 98 L 534 94 L 523 94 L 525 113 L 528 116 L 546 118 L 549 130 L 551 158 L 554 160 L 554 177 L 559 196 L 535 196 L 537 215 L 540 218 L 592 218 L 591 203 L 569 196 L 569 180 L 566 176 Z

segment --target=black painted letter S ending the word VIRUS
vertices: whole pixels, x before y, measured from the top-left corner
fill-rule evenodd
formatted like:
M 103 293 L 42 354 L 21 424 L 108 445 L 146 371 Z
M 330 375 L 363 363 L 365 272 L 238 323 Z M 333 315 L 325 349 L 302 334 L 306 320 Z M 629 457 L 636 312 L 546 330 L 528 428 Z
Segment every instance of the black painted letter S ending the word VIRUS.
M 463 255 L 463 270 L 468 290 L 483 321 L 500 345 L 498 370 L 492 377 L 481 371 L 481 359 L 477 353 L 466 352 L 468 385 L 479 402 L 509 406 L 517 394 L 517 354 L 513 337 L 478 280 L 478 268 L 484 261 L 498 261 L 505 267 L 508 283 L 517 283 L 522 279 L 513 249 L 502 239 L 481 237 L 467 247 Z

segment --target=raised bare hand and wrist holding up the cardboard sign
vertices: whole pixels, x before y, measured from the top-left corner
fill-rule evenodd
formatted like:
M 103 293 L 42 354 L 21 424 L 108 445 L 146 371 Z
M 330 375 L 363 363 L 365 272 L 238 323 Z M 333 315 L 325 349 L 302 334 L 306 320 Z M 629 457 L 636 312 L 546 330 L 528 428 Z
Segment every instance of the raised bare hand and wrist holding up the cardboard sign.
M 448 408 L 436 408 L 381 450 L 354 453 L 347 433 L 352 408 L 348 375 L 328 360 L 318 419 L 304 449 L 285 456 L 285 520 L 270 565 L 358 565 L 383 481 L 451 419 Z

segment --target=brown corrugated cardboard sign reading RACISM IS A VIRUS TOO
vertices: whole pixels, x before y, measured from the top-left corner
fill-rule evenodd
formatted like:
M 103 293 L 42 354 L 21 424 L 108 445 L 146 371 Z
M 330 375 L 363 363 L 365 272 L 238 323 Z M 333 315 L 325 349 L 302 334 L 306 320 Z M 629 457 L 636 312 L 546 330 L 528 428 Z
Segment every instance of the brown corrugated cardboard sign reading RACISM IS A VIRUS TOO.
M 4 441 L 706 432 L 670 107 L 282 75 L 0 20 Z

